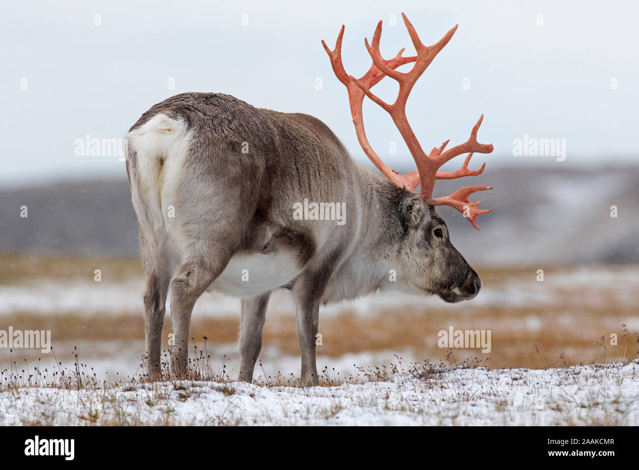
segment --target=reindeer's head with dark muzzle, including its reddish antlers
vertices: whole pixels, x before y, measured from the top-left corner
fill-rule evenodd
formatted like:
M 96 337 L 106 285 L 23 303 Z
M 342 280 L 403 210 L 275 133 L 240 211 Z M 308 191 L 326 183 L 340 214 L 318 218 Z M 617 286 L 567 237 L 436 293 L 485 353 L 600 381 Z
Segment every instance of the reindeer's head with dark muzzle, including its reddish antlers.
M 468 196 L 473 194 L 473 192 L 492 189 L 492 187 L 465 187 L 442 198 L 433 198 L 433 189 L 436 180 L 461 178 L 462 176 L 473 176 L 482 173 L 484 166 L 486 166 L 485 163 L 477 170 L 468 169 L 468 163 L 473 152 L 490 153 L 493 151 L 493 145 L 477 143 L 477 131 L 484 118 L 482 114 L 465 143 L 444 150 L 449 143 L 449 141 L 445 141 L 442 146 L 433 148 L 431 152 L 424 152 L 406 118 L 406 101 L 417 79 L 435 59 L 438 52 L 449 42 L 457 26 L 450 29 L 435 45 L 425 46 L 419 40 L 415 28 L 404 13 L 402 13 L 402 17 L 417 51 L 417 56 L 403 57 L 404 49 L 401 49 L 395 58 L 390 60 L 383 59 L 380 54 L 380 21 L 375 29 L 372 44 L 369 44 L 367 39 L 364 40 L 366 49 L 373 59 L 373 65 L 360 79 L 355 79 L 352 75 L 348 75 L 342 64 L 341 49 L 344 26 L 339 31 L 333 51 L 328 49 L 324 41 L 322 41 L 322 44 L 330 58 L 335 75 L 348 90 L 355 132 L 357 132 L 358 141 L 366 155 L 381 173 L 398 187 L 408 191 L 415 191 L 415 188 L 420 185 L 419 198 L 409 196 L 402 201 L 401 207 L 398 208 L 401 223 L 404 225 L 406 233 L 398 247 L 398 262 L 402 265 L 403 274 L 401 276 L 404 278 L 402 279 L 403 284 L 408 286 L 410 290 L 426 294 L 437 294 L 447 302 L 472 299 L 481 288 L 481 280 L 470 265 L 466 263 L 463 256 L 450 243 L 446 224 L 435 206 L 448 205 L 456 208 L 479 230 L 477 215 L 487 214 L 490 209 L 479 209 L 477 206 L 481 201 L 473 203 L 468 200 Z M 404 73 L 395 70 L 401 65 L 412 62 L 415 65 L 409 72 Z M 399 93 L 393 104 L 384 102 L 370 91 L 386 75 L 396 80 L 399 84 Z M 399 173 L 396 173 L 396 171 L 393 171 L 381 161 L 380 157 L 374 152 L 364 131 L 362 118 L 364 97 L 369 97 L 390 114 L 410 153 L 413 155 L 413 159 L 415 159 L 415 164 L 417 165 L 415 171 L 406 175 L 399 175 Z M 468 153 L 468 156 L 460 169 L 445 173 L 438 171 L 447 161 L 463 153 Z M 400 279 L 397 280 L 399 281 Z

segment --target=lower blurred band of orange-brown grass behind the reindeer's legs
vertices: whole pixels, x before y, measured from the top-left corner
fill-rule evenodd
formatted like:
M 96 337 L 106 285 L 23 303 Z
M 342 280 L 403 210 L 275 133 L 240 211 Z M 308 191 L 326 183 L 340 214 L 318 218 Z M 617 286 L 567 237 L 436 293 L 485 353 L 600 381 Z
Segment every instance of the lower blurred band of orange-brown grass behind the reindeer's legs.
M 472 313 L 450 310 L 429 311 L 383 311 L 371 318 L 355 314 L 320 318 L 319 331 L 323 344 L 318 354 L 339 357 L 360 352 L 396 351 L 410 353 L 412 357 L 445 359 L 448 349 L 438 347 L 438 331 L 449 325 L 463 329 L 490 329 L 491 347 L 488 354 L 479 349 L 456 349 L 453 359 L 459 361 L 468 356 L 488 359 L 493 368 L 544 368 L 546 366 L 569 366 L 591 361 L 622 361 L 639 357 L 639 343 L 634 331 L 624 333 L 625 318 L 634 317 L 631 309 L 616 311 L 610 315 L 606 309 L 580 311 L 580 318 L 570 311 L 535 311 L 534 309 L 475 309 Z M 168 315 L 167 315 L 168 317 Z M 534 317 L 542 328 L 527 329 L 526 318 Z M 91 341 L 119 341 L 144 344 L 144 322 L 141 316 L 119 315 L 105 317 L 100 321 L 79 314 L 56 317 L 32 316 L 20 313 L 12 318 L 14 328 L 51 330 L 54 345 L 73 345 Z M 616 326 L 615 326 L 616 325 Z M 190 336 L 210 343 L 233 343 L 237 340 L 238 318 L 194 318 Z M 171 331 L 167 318 L 164 331 Z M 618 344 L 606 349 L 601 346 L 601 336 L 609 338 L 616 333 Z M 165 344 L 166 348 L 166 336 Z M 624 336 L 626 335 L 626 336 Z M 137 342 L 137 343 L 136 343 Z M 190 348 L 193 348 L 192 341 Z M 282 354 L 299 354 L 294 318 L 267 318 L 264 329 L 265 347 L 280 350 Z M 58 348 L 59 349 L 59 348 Z M 604 356 L 605 354 L 605 356 Z M 36 359 L 38 350 L 22 349 L 15 355 L 21 359 Z

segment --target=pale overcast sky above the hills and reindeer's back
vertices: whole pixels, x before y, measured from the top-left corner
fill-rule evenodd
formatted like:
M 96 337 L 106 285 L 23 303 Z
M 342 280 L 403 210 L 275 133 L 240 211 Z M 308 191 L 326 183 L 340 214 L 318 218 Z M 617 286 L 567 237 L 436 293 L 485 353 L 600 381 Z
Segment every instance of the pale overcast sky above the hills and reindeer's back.
M 462 143 L 484 113 L 479 140 L 495 145 L 489 164 L 636 162 L 637 5 L 3 1 L 0 183 L 124 175 L 117 156 L 76 155 L 76 139 L 123 137 L 146 109 L 184 91 L 229 93 L 257 107 L 312 114 L 353 157 L 365 159 L 346 89 L 320 40 L 333 47 L 345 24 L 344 67 L 359 77 L 371 63 L 364 37 L 370 40 L 378 20 L 386 58 L 401 47 L 414 53 L 402 11 L 425 44 L 459 24 L 408 102 L 425 149 L 445 139 Z M 389 78 L 374 88 L 389 102 L 396 90 Z M 389 116 L 369 100 L 364 121 L 383 159 L 396 167 L 410 163 Z M 514 156 L 513 140 L 525 135 L 566 139 L 566 160 Z M 391 142 L 396 154 L 389 153 Z

